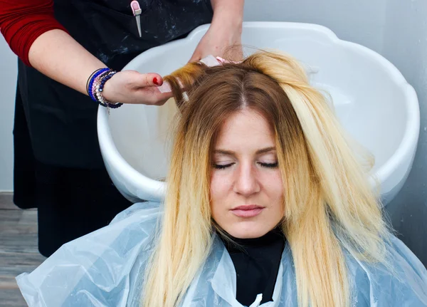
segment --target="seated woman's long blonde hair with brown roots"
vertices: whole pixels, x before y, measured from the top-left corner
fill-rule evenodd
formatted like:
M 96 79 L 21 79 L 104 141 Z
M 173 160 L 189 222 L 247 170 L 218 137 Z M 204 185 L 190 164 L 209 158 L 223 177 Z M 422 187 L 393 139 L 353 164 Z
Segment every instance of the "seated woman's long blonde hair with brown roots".
M 244 108 L 262 114 L 275 132 L 283 176 L 283 232 L 295 264 L 298 305 L 350 306 L 344 249 L 362 261 L 385 263 L 389 229 L 366 170 L 302 67 L 290 56 L 261 51 L 242 63 L 211 68 L 188 64 L 166 80 L 174 88 L 180 115 L 143 306 L 178 305 L 206 261 L 214 231 L 211 150 L 223 121 Z

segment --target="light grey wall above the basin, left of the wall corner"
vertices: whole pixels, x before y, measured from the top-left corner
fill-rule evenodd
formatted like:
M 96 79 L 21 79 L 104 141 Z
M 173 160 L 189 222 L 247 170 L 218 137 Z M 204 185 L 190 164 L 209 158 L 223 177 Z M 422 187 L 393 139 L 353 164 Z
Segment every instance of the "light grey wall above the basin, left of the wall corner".
M 410 1 L 410 0 L 402 0 Z M 320 24 L 376 52 L 383 45 L 386 0 L 246 0 L 245 21 Z

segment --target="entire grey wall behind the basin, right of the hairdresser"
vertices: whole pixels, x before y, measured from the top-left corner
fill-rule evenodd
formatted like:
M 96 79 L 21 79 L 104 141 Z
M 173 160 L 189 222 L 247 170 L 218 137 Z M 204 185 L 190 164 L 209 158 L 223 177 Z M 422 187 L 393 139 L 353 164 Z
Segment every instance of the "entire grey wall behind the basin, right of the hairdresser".
M 246 21 L 321 24 L 380 53 L 415 88 L 421 131 L 413 169 L 386 206 L 399 238 L 427 266 L 427 1 L 246 0 Z

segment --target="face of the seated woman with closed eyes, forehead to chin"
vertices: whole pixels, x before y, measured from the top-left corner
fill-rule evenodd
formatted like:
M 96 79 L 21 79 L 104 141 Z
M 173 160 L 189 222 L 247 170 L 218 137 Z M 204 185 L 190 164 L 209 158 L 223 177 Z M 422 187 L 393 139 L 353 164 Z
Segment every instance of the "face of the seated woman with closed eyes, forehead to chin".
M 211 210 L 236 238 L 263 236 L 283 218 L 283 182 L 273 133 L 253 110 L 231 115 L 213 152 Z

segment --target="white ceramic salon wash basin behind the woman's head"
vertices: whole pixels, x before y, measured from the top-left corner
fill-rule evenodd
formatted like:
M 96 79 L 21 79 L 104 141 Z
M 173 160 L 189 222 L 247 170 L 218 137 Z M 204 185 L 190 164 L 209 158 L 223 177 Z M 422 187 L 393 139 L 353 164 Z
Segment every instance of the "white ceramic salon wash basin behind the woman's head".
M 152 48 L 124 69 L 167 75 L 185 65 L 207 29 L 200 26 L 187 38 Z M 344 129 L 374 155 L 371 175 L 381 183 L 384 204 L 393 199 L 411 170 L 420 128 L 415 90 L 397 68 L 378 53 L 314 24 L 248 22 L 243 24 L 242 41 L 244 46 L 290 53 L 307 68 L 310 83 L 330 93 Z M 162 178 L 167 175 L 174 112 L 172 101 L 162 107 L 123 105 L 110 114 L 105 108 L 98 110 L 107 171 L 132 202 L 164 197 Z

